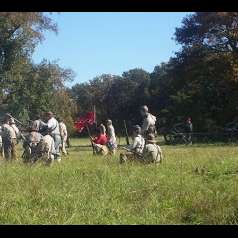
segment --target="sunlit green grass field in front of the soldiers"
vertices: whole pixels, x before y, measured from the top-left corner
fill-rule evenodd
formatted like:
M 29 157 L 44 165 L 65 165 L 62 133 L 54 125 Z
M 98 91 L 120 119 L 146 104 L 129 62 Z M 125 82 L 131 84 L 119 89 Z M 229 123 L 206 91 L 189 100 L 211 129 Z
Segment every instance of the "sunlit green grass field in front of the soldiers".
M 92 156 L 88 142 L 52 167 L 1 161 L 0 224 L 238 223 L 237 146 L 162 146 L 155 166 Z

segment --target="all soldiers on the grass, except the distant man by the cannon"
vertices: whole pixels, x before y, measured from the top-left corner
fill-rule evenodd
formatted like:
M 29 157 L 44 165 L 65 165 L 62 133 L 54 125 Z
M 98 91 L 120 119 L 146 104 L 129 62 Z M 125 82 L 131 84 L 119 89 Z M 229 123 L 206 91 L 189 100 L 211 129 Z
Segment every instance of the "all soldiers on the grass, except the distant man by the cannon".
M 161 162 L 163 156 L 159 145 L 156 143 L 156 117 L 149 113 L 147 106 L 140 109 L 143 123 L 132 127 L 132 144 L 123 147 L 120 162 L 138 160 L 145 163 Z M 19 121 L 18 121 L 19 122 Z M 35 116 L 24 135 L 15 124 L 14 118 L 6 114 L 0 127 L 0 145 L 6 160 L 17 159 L 16 145 L 23 141 L 23 159 L 25 162 L 35 162 L 45 156 L 50 164 L 61 161 L 61 153 L 67 154 L 66 143 L 68 138 L 67 128 L 62 118 L 55 118 L 52 112 L 45 113 L 42 119 Z M 91 137 L 94 154 L 115 154 L 118 145 L 112 121 L 108 119 L 106 126 L 100 124 L 96 135 Z

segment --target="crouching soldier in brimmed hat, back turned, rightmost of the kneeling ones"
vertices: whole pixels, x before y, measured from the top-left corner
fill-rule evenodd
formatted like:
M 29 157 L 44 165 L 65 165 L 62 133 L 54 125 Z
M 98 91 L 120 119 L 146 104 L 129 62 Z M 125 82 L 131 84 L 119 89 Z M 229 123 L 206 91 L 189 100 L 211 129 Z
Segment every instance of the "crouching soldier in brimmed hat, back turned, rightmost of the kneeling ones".
M 162 159 L 162 150 L 159 145 L 156 144 L 154 134 L 148 134 L 143 151 L 143 161 L 145 163 L 159 163 Z

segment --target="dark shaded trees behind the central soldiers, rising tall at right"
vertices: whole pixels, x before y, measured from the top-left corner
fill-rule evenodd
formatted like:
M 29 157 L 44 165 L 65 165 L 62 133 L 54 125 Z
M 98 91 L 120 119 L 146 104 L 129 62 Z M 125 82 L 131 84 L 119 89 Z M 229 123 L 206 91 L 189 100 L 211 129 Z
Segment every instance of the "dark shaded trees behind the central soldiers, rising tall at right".
M 195 13 L 175 31 L 181 50 L 152 73 L 132 69 L 122 76 L 101 75 L 70 90 L 81 111 L 96 105 L 100 120 L 141 123 L 139 107 L 147 104 L 171 126 L 191 117 L 194 130 L 214 131 L 237 119 L 238 13 Z

